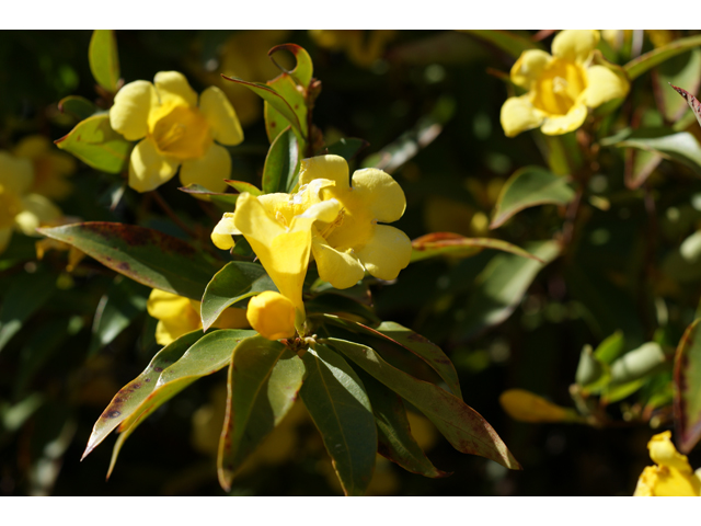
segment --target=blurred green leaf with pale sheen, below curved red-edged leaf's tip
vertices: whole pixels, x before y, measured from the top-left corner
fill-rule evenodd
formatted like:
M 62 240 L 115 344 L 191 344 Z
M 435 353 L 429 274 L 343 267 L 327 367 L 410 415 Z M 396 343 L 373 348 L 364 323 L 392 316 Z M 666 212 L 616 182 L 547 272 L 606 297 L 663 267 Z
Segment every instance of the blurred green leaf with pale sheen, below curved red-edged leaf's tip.
M 472 338 L 508 318 L 540 270 L 560 254 L 555 241 L 532 242 L 526 249 L 543 263 L 515 254 L 494 256 L 475 281 L 458 338 Z

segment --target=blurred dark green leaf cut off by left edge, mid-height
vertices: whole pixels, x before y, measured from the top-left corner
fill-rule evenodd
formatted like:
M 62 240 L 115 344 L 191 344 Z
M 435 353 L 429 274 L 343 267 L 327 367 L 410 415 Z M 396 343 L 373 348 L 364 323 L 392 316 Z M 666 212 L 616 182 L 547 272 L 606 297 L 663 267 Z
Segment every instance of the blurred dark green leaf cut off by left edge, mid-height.
M 37 271 L 21 273 L 12 279 L 2 296 L 0 309 L 0 351 L 56 291 L 56 275 Z

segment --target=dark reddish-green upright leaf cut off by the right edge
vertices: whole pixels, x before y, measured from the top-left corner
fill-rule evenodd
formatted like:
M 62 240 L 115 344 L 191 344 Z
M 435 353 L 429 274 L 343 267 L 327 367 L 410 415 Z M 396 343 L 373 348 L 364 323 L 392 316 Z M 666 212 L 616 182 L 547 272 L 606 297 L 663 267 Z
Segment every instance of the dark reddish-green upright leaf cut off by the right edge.
M 675 356 L 675 425 L 679 450 L 688 454 L 701 438 L 701 332 L 691 323 Z

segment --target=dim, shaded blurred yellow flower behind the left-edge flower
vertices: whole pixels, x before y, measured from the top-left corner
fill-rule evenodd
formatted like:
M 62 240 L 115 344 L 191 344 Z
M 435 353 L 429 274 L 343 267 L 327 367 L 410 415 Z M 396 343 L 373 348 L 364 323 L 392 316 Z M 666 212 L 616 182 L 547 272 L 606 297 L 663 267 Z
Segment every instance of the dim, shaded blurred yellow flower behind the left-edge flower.
M 28 159 L 34 165 L 34 183 L 30 192 L 50 199 L 62 199 L 73 190 L 66 181 L 76 171 L 76 160 L 58 151 L 50 140 L 42 135 L 23 138 L 14 149 L 14 155 Z

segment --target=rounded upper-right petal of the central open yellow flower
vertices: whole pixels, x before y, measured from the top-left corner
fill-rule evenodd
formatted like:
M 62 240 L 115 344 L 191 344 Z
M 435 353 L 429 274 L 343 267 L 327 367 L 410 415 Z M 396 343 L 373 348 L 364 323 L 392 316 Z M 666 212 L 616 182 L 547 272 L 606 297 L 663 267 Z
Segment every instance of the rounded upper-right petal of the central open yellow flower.
M 357 170 L 353 174 L 353 193 L 370 209 L 376 221 L 394 222 L 406 209 L 402 187 L 391 175 L 376 168 Z

